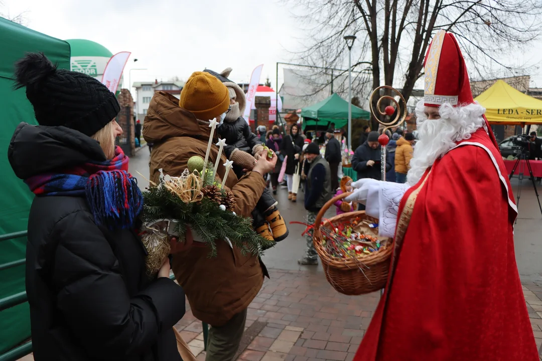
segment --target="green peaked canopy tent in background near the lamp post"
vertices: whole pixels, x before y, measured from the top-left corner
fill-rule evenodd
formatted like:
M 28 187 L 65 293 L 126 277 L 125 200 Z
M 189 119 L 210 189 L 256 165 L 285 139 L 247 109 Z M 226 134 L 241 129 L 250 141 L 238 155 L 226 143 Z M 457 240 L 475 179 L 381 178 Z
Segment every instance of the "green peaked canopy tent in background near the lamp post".
M 352 105 L 352 119 L 370 119 L 370 116 L 369 111 Z M 335 128 L 342 128 L 348 124 L 348 102 L 334 93 L 321 102 L 302 108 L 301 117 L 303 129 L 328 127 L 330 123 L 335 123 Z

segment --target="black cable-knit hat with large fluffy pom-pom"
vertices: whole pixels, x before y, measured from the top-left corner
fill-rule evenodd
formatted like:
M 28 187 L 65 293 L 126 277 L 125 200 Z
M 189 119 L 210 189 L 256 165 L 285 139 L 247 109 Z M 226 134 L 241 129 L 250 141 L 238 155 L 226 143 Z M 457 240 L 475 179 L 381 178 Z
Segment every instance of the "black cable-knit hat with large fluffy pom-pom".
M 119 114 L 117 98 L 86 74 L 57 69 L 43 53 L 29 53 L 15 63 L 15 89 L 27 98 L 42 126 L 64 126 L 91 136 Z

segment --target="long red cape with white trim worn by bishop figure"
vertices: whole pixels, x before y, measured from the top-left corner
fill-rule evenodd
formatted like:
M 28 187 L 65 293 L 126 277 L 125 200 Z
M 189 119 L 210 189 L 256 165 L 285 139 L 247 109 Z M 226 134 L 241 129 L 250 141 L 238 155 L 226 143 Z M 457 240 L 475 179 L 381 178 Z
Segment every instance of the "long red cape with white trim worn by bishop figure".
M 438 159 L 403 196 L 388 285 L 354 361 L 539 361 L 516 216 L 485 130 Z

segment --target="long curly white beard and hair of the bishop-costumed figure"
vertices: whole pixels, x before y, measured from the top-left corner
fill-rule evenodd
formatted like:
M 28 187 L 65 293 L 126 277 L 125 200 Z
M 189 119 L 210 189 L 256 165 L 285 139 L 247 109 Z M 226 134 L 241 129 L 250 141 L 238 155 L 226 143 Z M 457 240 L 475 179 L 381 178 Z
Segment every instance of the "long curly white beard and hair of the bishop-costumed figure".
M 428 120 L 424 111 L 424 102 L 418 102 L 416 124 L 420 140 L 414 147 L 410 170 L 406 176 L 410 186 L 416 185 L 425 170 L 448 150 L 454 148 L 456 142 L 470 139 L 471 134 L 482 126 L 485 127 L 482 115 L 486 109 L 480 104 L 469 104 L 457 108 L 449 103 L 442 104 L 438 109 L 441 115 L 441 119 L 438 120 Z

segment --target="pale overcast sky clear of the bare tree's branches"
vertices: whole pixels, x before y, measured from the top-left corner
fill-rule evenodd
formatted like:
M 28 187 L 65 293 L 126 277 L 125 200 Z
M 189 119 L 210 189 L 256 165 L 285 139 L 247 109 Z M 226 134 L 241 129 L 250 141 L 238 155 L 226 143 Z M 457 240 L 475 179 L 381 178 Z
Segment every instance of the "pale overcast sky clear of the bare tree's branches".
M 44 34 L 63 40 L 92 40 L 113 54 L 131 51 L 125 81 L 131 68 L 149 69 L 132 71 L 132 82 L 173 76 L 186 80 L 193 71 L 206 67 L 216 71 L 231 67 L 231 80 L 248 82 L 254 67 L 264 64 L 261 82 L 269 76 L 275 87 L 275 63 L 292 61 L 291 51 L 298 49 L 304 35 L 291 11 L 278 0 L 0 3 L 0 13 L 13 17 L 24 12 L 25 25 Z M 535 53 L 540 57 L 542 52 Z M 525 61 L 532 64 L 533 54 L 526 56 Z M 133 58 L 139 61 L 134 64 Z M 541 73 L 533 70 L 531 86 L 542 87 Z

